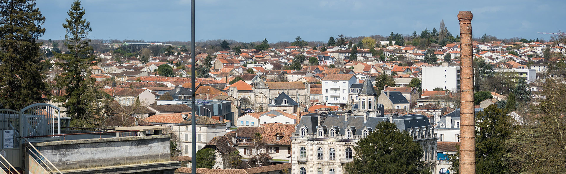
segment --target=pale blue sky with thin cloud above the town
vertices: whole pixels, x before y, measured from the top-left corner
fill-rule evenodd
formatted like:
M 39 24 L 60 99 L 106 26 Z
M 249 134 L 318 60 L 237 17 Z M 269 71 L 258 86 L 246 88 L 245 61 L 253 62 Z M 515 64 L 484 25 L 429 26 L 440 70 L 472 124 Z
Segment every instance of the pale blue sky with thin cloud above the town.
M 41 39 L 65 39 L 62 23 L 73 0 L 36 1 L 45 16 Z M 190 0 L 83 0 L 91 39 L 190 41 Z M 410 35 L 445 26 L 459 35 L 458 11 L 474 15 L 474 37 L 550 39 L 566 31 L 566 1 L 260 1 L 197 0 L 196 40 L 328 41 L 345 36 Z

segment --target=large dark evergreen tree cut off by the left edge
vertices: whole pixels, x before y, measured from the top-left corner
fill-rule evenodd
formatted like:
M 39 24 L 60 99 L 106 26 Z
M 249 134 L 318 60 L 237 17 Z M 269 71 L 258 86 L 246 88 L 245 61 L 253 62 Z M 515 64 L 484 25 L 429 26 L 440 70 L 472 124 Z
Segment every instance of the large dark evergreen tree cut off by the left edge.
M 37 39 L 45 18 L 33 1 L 0 2 L 0 108 L 19 110 L 47 95 Z M 17 10 L 16 10 L 17 9 Z

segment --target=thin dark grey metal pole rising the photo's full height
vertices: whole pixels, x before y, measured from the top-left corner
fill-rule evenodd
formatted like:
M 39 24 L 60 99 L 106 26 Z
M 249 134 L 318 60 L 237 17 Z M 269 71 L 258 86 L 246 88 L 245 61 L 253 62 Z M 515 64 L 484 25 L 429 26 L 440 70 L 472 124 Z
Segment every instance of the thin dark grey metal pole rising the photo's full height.
M 195 0 L 191 0 L 191 173 L 196 173 L 195 41 Z

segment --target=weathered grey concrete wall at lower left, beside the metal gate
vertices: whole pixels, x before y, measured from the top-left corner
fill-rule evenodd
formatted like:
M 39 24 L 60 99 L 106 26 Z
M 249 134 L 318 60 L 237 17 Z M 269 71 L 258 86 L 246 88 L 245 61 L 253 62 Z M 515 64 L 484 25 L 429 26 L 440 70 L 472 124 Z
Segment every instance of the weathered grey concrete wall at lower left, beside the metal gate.
M 170 135 L 42 142 L 34 146 L 60 170 L 170 161 Z

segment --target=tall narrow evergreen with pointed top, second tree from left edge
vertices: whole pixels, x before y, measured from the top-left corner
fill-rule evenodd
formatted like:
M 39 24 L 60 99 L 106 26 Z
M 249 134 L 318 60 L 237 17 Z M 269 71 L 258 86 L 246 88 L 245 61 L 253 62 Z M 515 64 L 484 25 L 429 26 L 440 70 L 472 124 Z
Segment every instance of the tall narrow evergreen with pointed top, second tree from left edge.
M 55 101 L 63 103 L 67 108 L 67 116 L 72 117 L 71 124 L 76 127 L 92 126 L 89 120 L 93 117 L 88 113 L 93 103 L 97 102 L 92 96 L 95 79 L 91 78 L 91 66 L 96 65 L 96 55 L 92 54 L 92 46 L 88 43 L 87 35 L 91 32 L 90 23 L 83 19 L 84 9 L 80 2 L 76 0 L 71 9 L 67 12 L 69 18 L 63 23 L 66 29 L 65 46 L 70 54 L 57 53 L 55 57 L 65 62 L 57 65 L 62 68 L 63 73 L 55 80 L 59 89 L 65 89 L 65 94 L 56 96 Z

